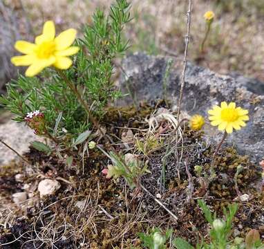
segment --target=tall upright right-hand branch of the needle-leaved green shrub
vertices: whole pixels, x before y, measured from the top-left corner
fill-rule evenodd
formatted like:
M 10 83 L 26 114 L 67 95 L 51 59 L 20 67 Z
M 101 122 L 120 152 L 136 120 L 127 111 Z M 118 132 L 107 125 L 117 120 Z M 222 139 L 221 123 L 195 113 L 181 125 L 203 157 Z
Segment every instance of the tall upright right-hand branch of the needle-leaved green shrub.
M 82 84 L 86 86 L 89 104 L 100 112 L 109 100 L 120 97 L 115 91 L 111 75 L 113 74 L 113 59 L 118 54 L 124 54 L 128 48 L 128 41 L 122 41 L 124 24 L 131 20 L 130 5 L 126 0 L 117 0 L 111 6 L 109 17 L 97 10 L 93 15 L 93 26 L 86 26 L 84 38 L 79 44 L 88 50 L 88 57 L 79 54 L 79 72 L 82 75 Z

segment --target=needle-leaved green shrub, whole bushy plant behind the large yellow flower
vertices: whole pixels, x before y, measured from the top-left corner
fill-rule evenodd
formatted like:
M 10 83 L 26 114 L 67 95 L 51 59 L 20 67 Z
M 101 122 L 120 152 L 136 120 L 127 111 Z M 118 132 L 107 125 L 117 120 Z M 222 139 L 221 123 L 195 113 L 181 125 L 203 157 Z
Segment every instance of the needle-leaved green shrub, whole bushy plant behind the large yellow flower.
M 121 95 L 113 85 L 113 59 L 128 48 L 122 33 L 131 20 L 129 9 L 126 0 L 116 0 L 109 15 L 96 10 L 93 25 L 86 26 L 83 38 L 76 41 L 81 49 L 73 66 L 66 71 L 46 68 L 41 77 L 19 75 L 7 85 L 0 105 L 15 113 L 17 122 L 39 110 L 41 118 L 34 123 L 28 119 L 28 126 L 62 150 L 76 149 L 92 128 L 91 115 L 102 116 L 106 104 Z

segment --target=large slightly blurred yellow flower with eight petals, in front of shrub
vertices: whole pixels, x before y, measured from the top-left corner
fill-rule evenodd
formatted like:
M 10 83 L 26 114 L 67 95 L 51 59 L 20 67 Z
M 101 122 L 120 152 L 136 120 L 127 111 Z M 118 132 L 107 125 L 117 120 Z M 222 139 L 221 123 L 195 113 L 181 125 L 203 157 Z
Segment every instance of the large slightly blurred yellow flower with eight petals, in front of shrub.
M 67 69 L 73 61 L 67 56 L 78 52 L 79 47 L 73 44 L 77 31 L 73 28 L 65 30 L 55 37 L 55 25 L 53 21 L 46 21 L 43 33 L 35 38 L 35 44 L 25 41 L 17 41 L 15 48 L 25 55 L 11 58 L 15 66 L 29 66 L 26 76 L 37 75 L 47 66 L 55 66 L 59 69 Z

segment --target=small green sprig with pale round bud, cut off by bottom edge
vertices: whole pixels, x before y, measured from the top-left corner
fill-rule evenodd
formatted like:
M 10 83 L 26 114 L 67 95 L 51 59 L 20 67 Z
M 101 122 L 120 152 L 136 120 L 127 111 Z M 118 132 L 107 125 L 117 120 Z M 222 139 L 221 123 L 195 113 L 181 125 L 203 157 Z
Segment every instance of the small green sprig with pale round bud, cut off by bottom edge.
M 166 241 L 171 237 L 172 232 L 173 230 L 169 229 L 167 232 L 165 232 L 165 234 L 162 234 L 159 228 L 155 228 L 150 234 L 144 234 L 143 232 L 140 232 L 138 236 L 143 242 L 144 248 L 164 249 L 166 248 Z

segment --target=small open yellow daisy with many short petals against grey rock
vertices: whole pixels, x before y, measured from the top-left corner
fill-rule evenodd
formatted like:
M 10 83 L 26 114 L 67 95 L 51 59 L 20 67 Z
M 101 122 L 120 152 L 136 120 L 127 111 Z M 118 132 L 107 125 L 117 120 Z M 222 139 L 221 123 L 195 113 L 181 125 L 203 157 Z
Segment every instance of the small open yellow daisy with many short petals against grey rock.
M 249 120 L 247 116 L 248 111 L 242 109 L 241 107 L 236 107 L 236 103 L 221 102 L 221 106 L 217 105 L 213 109 L 208 111 L 209 120 L 211 120 L 211 125 L 217 126 L 220 131 L 227 131 L 227 133 L 232 133 L 233 128 L 240 130 L 241 127 L 245 127 L 245 121 Z

